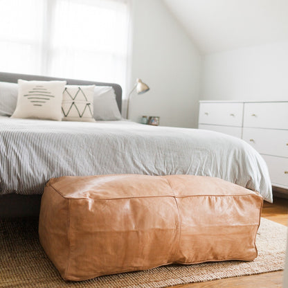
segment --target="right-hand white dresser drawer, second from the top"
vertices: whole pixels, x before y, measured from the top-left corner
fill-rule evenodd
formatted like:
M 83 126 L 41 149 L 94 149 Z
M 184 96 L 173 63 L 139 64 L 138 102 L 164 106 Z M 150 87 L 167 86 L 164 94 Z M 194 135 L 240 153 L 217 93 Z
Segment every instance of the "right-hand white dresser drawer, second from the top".
M 288 130 L 244 127 L 242 138 L 261 154 L 288 157 Z

